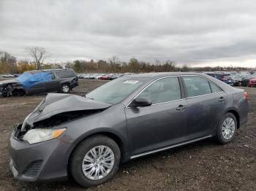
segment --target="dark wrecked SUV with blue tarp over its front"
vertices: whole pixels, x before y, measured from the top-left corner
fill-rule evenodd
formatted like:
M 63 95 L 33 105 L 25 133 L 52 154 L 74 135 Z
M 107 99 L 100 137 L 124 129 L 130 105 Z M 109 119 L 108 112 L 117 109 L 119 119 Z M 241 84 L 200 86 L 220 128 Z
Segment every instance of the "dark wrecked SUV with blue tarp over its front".
M 45 69 L 26 71 L 18 78 L 0 82 L 0 95 L 32 95 L 49 92 L 69 93 L 78 86 L 78 77 L 72 69 Z

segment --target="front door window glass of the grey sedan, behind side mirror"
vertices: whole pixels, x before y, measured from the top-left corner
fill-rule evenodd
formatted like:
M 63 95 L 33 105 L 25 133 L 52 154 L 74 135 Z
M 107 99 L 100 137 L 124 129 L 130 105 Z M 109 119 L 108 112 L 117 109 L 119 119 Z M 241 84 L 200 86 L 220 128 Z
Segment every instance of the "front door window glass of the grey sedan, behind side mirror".
M 178 77 L 159 79 L 143 90 L 138 97 L 150 98 L 152 104 L 181 99 L 181 89 Z

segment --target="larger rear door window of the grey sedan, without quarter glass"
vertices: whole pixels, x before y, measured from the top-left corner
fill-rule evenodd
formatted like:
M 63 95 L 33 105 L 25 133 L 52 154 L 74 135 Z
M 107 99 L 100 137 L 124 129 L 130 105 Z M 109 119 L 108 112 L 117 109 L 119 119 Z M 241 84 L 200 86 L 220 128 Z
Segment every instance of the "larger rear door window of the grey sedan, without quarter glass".
M 206 95 L 211 93 L 211 87 L 208 80 L 203 77 L 185 76 L 183 77 L 185 86 L 187 88 L 188 97 Z

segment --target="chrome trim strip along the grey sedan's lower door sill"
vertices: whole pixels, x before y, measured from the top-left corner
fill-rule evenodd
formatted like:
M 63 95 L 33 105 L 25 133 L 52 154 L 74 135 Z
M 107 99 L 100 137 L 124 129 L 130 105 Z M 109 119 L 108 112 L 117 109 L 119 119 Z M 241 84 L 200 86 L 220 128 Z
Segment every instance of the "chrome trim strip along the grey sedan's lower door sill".
M 164 148 L 161 148 L 161 149 L 154 149 L 152 151 L 148 151 L 148 152 L 143 152 L 141 154 L 138 154 L 138 155 L 132 155 L 130 157 L 130 159 L 133 159 L 133 158 L 137 158 L 137 157 L 142 157 L 144 155 L 150 155 L 150 154 L 153 154 L 155 152 L 160 152 L 160 151 L 164 151 L 164 150 L 167 150 L 167 149 L 172 149 L 172 148 L 175 148 L 175 147 L 180 147 L 182 145 L 185 145 L 185 144 L 190 144 L 190 143 L 193 143 L 193 142 L 196 142 L 196 141 L 200 141 L 200 140 L 203 140 L 203 139 L 208 139 L 212 137 L 211 135 L 210 136 L 203 136 L 201 138 L 197 138 L 197 139 L 193 139 L 193 140 L 190 140 L 190 141 L 185 141 L 183 143 L 179 143 L 179 144 L 173 144 L 171 146 L 168 146 L 168 147 L 164 147 Z

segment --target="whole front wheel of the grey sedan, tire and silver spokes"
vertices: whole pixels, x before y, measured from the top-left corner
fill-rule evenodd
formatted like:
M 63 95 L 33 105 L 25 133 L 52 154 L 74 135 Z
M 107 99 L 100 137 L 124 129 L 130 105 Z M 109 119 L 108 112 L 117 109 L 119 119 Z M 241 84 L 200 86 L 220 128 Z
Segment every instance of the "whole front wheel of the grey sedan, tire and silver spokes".
M 94 151 L 96 151 L 97 157 L 98 157 L 99 147 L 101 148 L 105 147 L 105 149 L 102 149 L 103 154 L 106 153 L 108 149 L 110 149 L 112 152 L 110 152 L 109 155 L 105 155 L 106 157 L 104 157 L 104 160 L 101 160 L 102 157 L 99 157 L 99 159 L 93 158 L 93 155 L 91 155 L 92 152 L 90 151 L 95 148 Z M 112 155 L 114 157 L 110 157 Z M 91 157 L 91 159 L 93 159 L 94 162 L 91 162 L 91 159 L 90 161 L 87 161 L 87 160 L 84 161 L 85 157 L 88 157 L 88 156 L 89 156 L 89 159 Z M 75 179 L 75 181 L 78 182 L 78 184 L 82 185 L 83 187 L 94 187 L 104 182 L 108 182 L 108 180 L 112 179 L 113 176 L 115 176 L 116 172 L 118 171 L 120 157 L 121 157 L 120 149 L 116 144 L 116 142 L 113 141 L 113 139 L 110 139 L 107 136 L 101 136 L 101 135 L 92 136 L 89 139 L 85 139 L 84 141 L 82 141 L 78 145 L 78 147 L 75 148 L 75 151 L 72 153 L 72 156 L 70 159 L 69 170 L 73 179 Z M 111 163 L 111 165 L 107 165 L 111 169 L 106 168 L 105 165 L 101 164 L 107 161 L 106 158 L 109 158 L 110 160 L 112 160 L 112 162 L 110 162 L 109 160 L 107 162 L 108 164 Z M 89 173 L 89 171 L 94 171 L 94 173 L 91 174 L 91 177 L 89 177 L 90 174 L 87 174 L 86 176 L 85 174 L 86 171 L 85 172 L 83 171 L 82 165 L 85 168 L 87 168 L 89 165 L 92 166 L 87 169 L 87 173 Z M 107 172 L 106 175 L 102 173 L 102 170 L 99 170 L 101 168 L 105 169 L 105 172 Z M 95 174 L 96 174 L 95 169 L 98 169 L 99 175 L 101 174 L 101 176 L 96 176 L 97 177 L 96 179 L 92 179 L 92 176 L 94 176 L 95 178 Z

